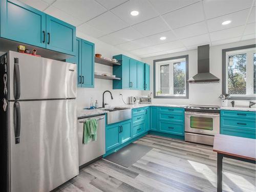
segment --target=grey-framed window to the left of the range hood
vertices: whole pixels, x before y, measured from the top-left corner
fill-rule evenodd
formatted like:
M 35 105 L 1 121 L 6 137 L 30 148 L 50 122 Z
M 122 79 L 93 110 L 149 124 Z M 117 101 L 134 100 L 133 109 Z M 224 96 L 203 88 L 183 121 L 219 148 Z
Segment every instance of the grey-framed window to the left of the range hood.
M 154 98 L 188 98 L 188 55 L 154 60 Z

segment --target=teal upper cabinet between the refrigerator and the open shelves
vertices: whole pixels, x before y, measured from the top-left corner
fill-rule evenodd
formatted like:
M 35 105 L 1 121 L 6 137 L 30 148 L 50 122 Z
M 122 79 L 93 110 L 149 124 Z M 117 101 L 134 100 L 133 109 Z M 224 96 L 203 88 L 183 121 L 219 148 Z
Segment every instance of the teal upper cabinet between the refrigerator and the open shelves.
M 77 65 L 77 87 L 94 88 L 94 44 L 77 37 L 75 45 L 75 57 L 66 61 Z

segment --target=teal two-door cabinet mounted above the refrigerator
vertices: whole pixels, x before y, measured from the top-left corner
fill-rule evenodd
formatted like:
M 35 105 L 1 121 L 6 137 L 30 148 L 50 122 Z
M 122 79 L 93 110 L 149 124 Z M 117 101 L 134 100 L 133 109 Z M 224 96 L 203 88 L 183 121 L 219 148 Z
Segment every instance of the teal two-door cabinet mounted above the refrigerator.
M 76 27 L 16 0 L 0 0 L 0 36 L 74 55 Z

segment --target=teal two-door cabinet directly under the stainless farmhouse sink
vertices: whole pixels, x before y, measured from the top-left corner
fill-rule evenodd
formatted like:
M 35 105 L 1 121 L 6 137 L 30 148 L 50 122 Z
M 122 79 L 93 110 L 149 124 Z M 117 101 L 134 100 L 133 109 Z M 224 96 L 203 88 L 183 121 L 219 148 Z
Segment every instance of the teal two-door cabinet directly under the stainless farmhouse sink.
M 118 122 L 106 126 L 106 152 L 132 139 L 132 122 Z

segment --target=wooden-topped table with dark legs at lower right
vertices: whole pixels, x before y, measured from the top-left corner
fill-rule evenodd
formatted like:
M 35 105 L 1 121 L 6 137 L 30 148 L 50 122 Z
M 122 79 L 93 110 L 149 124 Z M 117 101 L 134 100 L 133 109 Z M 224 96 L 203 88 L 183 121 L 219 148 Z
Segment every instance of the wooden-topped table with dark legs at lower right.
M 255 139 L 216 134 L 214 152 L 217 152 L 217 191 L 222 191 L 223 157 L 255 164 Z

